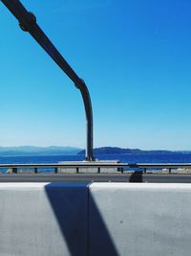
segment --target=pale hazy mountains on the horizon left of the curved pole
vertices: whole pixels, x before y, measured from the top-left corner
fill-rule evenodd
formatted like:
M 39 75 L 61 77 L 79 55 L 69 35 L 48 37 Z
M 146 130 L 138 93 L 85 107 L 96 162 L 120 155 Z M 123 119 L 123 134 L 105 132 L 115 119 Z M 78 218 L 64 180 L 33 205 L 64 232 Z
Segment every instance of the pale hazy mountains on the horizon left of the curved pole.
M 0 156 L 28 156 L 28 155 L 74 155 L 81 149 L 74 147 L 34 147 L 34 146 L 20 146 L 20 147 L 0 147 Z

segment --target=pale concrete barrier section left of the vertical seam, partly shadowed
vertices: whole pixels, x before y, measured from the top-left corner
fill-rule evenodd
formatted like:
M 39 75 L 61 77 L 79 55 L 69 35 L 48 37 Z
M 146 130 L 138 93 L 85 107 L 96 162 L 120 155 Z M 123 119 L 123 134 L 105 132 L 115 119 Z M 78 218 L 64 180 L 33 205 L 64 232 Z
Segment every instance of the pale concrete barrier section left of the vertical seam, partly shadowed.
M 0 255 L 86 255 L 86 184 L 0 184 Z

